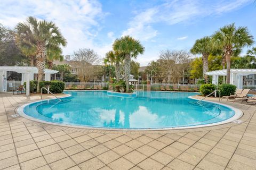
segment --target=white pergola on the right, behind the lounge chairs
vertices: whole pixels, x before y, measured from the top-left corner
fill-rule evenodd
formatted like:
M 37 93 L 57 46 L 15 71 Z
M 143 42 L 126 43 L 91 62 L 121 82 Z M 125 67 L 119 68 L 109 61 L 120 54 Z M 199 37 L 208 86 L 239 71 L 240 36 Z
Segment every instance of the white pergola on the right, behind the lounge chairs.
M 219 76 L 227 75 L 227 70 L 216 70 L 206 72 L 206 75 L 212 75 L 212 83 L 218 84 Z M 238 89 L 243 89 L 243 76 L 256 74 L 256 69 L 230 69 L 230 84 L 234 84 Z

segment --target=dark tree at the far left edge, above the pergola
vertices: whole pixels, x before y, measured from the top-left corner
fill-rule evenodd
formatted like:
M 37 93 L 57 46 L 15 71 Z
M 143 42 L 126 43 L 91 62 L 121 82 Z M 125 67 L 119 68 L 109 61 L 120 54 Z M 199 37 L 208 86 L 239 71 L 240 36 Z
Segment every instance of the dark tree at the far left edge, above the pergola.
M 17 46 L 15 32 L 0 24 L 0 66 L 27 64 L 27 57 Z

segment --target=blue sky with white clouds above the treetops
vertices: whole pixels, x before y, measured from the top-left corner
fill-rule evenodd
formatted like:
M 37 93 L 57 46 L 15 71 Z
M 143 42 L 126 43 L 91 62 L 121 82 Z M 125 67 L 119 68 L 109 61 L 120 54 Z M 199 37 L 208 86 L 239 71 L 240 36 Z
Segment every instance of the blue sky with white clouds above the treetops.
M 232 22 L 247 26 L 256 40 L 253 2 L 0 0 L 0 23 L 14 28 L 30 15 L 54 21 L 68 41 L 64 55 L 79 48 L 92 48 L 104 57 L 116 38 L 131 35 L 145 46 L 145 54 L 137 58 L 145 66 L 156 60 L 161 50 L 189 50 L 196 39 L 210 36 Z

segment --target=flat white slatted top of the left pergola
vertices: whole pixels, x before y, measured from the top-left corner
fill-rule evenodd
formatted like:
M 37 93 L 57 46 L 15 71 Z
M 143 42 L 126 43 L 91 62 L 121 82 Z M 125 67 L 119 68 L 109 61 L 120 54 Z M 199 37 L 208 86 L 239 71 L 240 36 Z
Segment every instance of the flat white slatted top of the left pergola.
M 15 71 L 17 73 L 38 73 L 37 67 L 31 67 L 31 66 L 0 66 L 0 71 Z M 59 71 L 57 70 L 50 70 L 50 69 L 45 69 L 44 73 L 58 73 Z

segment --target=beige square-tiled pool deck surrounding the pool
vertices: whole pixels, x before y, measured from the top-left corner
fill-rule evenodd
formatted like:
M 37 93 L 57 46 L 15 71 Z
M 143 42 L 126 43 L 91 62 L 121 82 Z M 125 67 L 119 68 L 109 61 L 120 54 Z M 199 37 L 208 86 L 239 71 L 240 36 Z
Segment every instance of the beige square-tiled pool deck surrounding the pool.
M 254 105 L 222 101 L 243 111 L 239 123 L 187 130 L 78 129 L 11 116 L 39 99 L 0 93 L 0 169 L 256 169 Z

